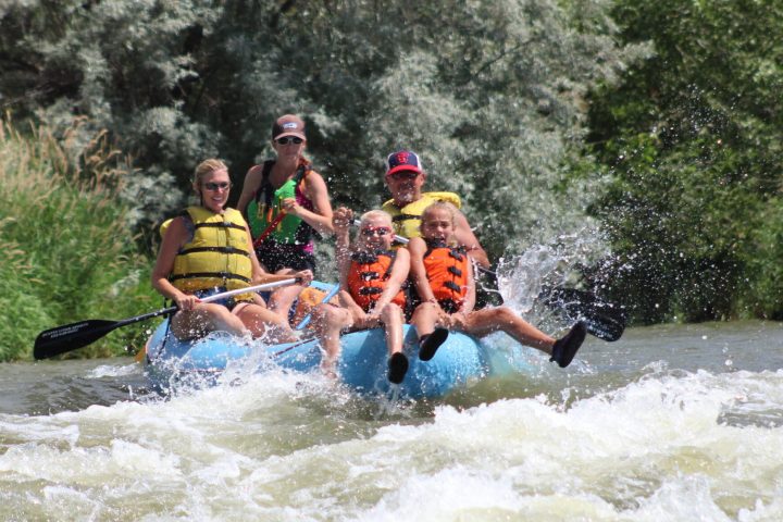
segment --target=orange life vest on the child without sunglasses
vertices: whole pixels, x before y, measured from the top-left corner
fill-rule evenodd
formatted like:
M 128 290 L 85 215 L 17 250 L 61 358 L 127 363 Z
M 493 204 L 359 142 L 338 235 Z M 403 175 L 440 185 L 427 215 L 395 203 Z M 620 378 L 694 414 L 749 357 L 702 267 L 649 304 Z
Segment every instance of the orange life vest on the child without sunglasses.
M 471 270 L 464 248 L 427 243 L 423 261 L 430 288 L 440 308 L 448 313 L 462 308 L 468 295 L 468 271 Z

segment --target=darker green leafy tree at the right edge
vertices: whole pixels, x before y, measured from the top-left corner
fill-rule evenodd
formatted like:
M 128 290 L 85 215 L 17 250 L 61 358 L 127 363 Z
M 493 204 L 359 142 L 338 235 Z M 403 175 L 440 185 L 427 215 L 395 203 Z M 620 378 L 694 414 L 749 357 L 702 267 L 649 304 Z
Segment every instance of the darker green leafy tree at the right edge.
M 646 321 L 782 316 L 783 5 L 617 1 L 655 57 L 593 97 L 612 284 Z

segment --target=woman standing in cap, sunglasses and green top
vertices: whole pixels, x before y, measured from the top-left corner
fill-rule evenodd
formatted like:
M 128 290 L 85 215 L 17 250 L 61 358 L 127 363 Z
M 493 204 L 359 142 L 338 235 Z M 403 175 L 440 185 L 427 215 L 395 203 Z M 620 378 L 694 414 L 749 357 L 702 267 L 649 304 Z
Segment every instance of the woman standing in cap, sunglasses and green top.
M 293 114 L 272 125 L 276 160 L 252 166 L 245 176 L 237 209 L 247 216 L 259 261 L 269 272 L 290 275 L 315 271 L 315 233 L 332 234 L 326 183 L 302 152 L 304 122 Z M 270 309 L 286 315 L 301 285 L 272 294 Z

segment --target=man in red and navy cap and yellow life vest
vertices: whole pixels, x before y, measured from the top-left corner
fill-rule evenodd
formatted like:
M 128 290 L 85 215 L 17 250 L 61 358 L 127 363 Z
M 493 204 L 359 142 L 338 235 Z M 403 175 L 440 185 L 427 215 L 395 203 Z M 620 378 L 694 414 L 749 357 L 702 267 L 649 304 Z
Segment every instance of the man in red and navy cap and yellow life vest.
M 386 185 L 391 192 L 391 199 L 386 201 L 382 209 L 391 215 L 395 233 L 399 236 L 421 236 L 421 214 L 435 201 L 445 201 L 458 209 L 462 206 L 460 197 L 453 192 L 423 192 L 425 181 L 426 172 L 414 152 L 399 150 L 386 159 Z M 484 268 L 489 266 L 489 258 L 461 212 L 456 215 L 455 236 L 471 258 Z

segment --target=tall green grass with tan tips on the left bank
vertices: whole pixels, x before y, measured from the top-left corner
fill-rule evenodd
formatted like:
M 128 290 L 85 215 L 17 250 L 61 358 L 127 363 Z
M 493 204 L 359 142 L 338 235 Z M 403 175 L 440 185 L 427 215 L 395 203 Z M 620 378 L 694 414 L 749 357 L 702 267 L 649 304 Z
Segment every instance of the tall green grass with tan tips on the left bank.
M 0 122 L 0 361 L 29 359 L 42 330 L 162 304 L 117 196 L 128 162 L 103 134 L 72 158 L 75 148 L 46 127 L 21 133 Z M 147 327 L 124 327 L 73 355 L 136 349 Z

